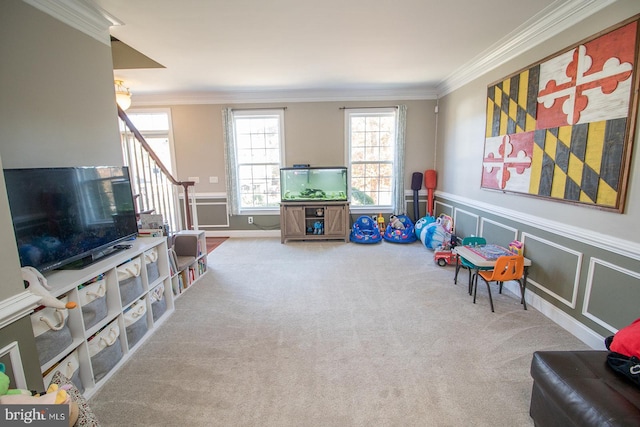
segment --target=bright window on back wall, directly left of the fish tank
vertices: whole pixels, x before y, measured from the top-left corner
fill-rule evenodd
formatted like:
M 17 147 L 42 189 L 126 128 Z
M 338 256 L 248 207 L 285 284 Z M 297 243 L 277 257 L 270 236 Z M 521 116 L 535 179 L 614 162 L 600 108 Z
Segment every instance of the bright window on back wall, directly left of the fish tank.
M 240 211 L 279 208 L 283 122 L 282 110 L 233 112 Z

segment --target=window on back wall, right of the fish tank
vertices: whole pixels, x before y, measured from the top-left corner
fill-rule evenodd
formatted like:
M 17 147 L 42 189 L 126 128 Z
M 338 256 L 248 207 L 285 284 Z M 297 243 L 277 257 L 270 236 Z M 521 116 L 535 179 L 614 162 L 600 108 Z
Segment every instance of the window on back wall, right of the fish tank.
M 394 208 L 396 111 L 345 110 L 352 207 Z

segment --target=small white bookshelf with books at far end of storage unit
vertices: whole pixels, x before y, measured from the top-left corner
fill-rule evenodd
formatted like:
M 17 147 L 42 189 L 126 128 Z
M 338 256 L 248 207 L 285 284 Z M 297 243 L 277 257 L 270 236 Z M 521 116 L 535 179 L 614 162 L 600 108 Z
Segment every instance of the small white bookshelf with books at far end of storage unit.
M 193 239 L 195 247 L 192 245 L 175 244 L 175 255 L 181 257 L 192 257 L 183 266 L 178 262 L 171 261 L 171 284 L 174 297 L 180 297 L 183 292 L 189 289 L 194 283 L 207 273 L 207 239 L 204 231 L 183 230 L 174 235 L 174 239 L 181 239 L 187 236 L 187 241 Z

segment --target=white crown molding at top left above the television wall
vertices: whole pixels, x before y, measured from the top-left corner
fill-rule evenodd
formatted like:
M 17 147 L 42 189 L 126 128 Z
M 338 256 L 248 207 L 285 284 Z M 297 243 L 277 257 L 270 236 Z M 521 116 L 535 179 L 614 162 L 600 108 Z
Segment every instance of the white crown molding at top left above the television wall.
M 117 23 L 88 2 L 81 0 L 22 0 L 101 43 L 111 46 L 109 27 Z

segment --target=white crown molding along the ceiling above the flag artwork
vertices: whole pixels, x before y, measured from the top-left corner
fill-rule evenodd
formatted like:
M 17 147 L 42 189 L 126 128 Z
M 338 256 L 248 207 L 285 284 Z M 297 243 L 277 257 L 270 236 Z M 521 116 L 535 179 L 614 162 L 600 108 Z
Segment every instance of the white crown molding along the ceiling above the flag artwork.
M 617 0 L 568 0 L 552 3 L 510 34 L 450 74 L 437 87 L 439 97 L 518 57 Z

